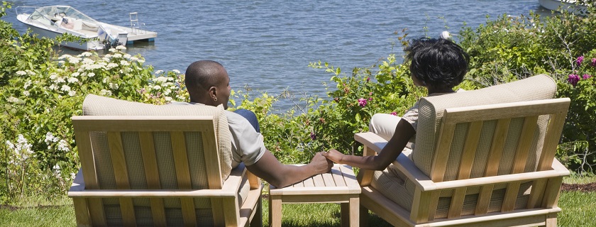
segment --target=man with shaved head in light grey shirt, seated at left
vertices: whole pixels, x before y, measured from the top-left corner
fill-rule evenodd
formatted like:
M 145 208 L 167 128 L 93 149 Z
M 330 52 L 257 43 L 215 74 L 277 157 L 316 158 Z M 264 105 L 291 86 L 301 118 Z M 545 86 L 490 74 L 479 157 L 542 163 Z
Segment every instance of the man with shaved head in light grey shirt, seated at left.
M 228 109 L 230 77 L 218 62 L 202 60 L 193 62 L 186 71 L 185 84 L 190 96 L 189 104 L 223 105 Z M 251 111 L 226 111 L 232 134 L 233 166 L 244 162 L 254 175 L 275 187 L 286 187 L 313 175 L 329 172 L 333 162 L 316 153 L 307 165 L 282 165 L 263 143 L 258 121 Z

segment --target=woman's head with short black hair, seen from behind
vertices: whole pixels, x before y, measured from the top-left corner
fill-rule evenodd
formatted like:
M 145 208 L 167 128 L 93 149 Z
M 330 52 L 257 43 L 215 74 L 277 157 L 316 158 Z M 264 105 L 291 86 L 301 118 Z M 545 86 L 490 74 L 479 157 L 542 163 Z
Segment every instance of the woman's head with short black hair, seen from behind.
M 419 38 L 404 49 L 410 72 L 421 86 L 436 91 L 452 89 L 468 72 L 468 53 L 446 39 Z

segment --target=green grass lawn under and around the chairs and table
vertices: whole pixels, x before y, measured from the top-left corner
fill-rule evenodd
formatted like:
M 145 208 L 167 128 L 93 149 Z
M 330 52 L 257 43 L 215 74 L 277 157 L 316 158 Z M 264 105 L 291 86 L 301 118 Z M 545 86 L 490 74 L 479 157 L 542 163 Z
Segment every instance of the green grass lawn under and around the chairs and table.
M 567 177 L 565 183 L 596 182 L 589 179 Z M 562 192 L 558 206 L 558 226 L 593 226 L 596 223 L 596 192 Z M 269 226 L 267 200 L 263 199 L 263 226 Z M 370 226 L 390 226 L 375 215 L 370 216 Z M 284 204 L 283 226 L 340 226 L 338 204 Z M 75 226 L 72 200 L 60 197 L 55 201 L 29 199 L 16 207 L 0 206 L 0 226 Z

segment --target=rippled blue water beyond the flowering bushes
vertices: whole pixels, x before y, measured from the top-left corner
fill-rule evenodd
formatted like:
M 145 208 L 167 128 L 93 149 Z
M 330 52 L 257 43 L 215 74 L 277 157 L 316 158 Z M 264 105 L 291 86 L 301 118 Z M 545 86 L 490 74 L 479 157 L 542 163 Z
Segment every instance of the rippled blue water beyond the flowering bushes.
M 195 60 L 216 60 L 228 70 L 233 89 L 279 94 L 324 95 L 330 74 L 309 62 L 329 62 L 349 72 L 367 67 L 392 52 L 394 31 L 409 37 L 476 27 L 486 16 L 529 11 L 549 13 L 537 0 L 395 0 L 395 1 L 15 1 L 16 6 L 68 4 L 98 21 L 129 26 L 128 13 L 158 32 L 155 43 L 128 45 L 155 70 L 180 70 Z M 18 31 L 14 10 L 2 18 Z M 446 28 L 446 26 L 448 28 Z M 401 54 L 401 50 L 396 50 Z M 282 101 L 280 109 L 292 104 Z

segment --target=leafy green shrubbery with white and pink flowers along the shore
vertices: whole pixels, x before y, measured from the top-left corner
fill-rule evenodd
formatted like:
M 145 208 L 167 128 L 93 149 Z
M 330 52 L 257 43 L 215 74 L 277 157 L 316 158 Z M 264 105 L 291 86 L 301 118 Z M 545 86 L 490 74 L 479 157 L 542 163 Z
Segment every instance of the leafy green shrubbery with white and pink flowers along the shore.
M 0 16 L 10 5 L 4 3 Z M 590 11 L 593 11 L 590 7 Z M 470 53 L 470 71 L 458 88 L 479 89 L 546 73 L 556 79 L 559 97 L 572 100 L 558 159 L 579 173 L 596 165 L 596 18 L 569 13 L 541 18 L 500 16 L 478 28 L 464 26 L 458 43 Z M 397 37 L 407 45 L 406 30 Z M 184 77 L 177 70 L 153 72 L 126 48 L 100 55 L 58 56 L 57 40 L 19 35 L 0 21 L 0 204 L 38 194 L 64 194 L 79 168 L 70 117 L 81 114 L 87 94 L 150 104 L 187 101 Z M 583 58 L 582 58 L 583 57 Z M 265 145 L 285 163 L 309 162 L 314 153 L 337 148 L 360 155 L 353 134 L 368 131 L 376 113 L 402 115 L 425 89 L 415 87 L 408 65 L 389 55 L 370 67 L 342 72 L 326 62 L 309 66 L 329 74 L 327 96 L 283 92 L 271 95 L 250 88 L 232 92 L 232 109 L 257 114 Z M 580 60 L 583 59 L 583 60 Z M 294 109 L 276 111 L 290 99 Z

